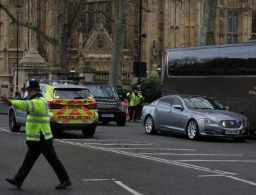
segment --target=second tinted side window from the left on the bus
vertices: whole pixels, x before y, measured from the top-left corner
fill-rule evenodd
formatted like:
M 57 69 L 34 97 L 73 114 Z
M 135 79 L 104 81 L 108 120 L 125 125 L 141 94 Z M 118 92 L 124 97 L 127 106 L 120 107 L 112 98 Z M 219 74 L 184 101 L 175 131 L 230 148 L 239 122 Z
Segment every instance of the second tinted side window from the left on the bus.
M 216 75 L 219 48 L 204 48 L 191 50 L 192 76 Z

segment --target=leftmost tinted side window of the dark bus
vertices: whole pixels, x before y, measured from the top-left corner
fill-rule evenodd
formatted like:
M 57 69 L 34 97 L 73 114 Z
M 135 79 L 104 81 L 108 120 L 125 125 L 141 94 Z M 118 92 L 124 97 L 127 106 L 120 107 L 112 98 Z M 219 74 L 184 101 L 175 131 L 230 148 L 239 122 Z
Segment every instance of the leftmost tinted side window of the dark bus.
M 187 76 L 191 70 L 191 50 L 174 50 L 168 52 L 168 75 Z

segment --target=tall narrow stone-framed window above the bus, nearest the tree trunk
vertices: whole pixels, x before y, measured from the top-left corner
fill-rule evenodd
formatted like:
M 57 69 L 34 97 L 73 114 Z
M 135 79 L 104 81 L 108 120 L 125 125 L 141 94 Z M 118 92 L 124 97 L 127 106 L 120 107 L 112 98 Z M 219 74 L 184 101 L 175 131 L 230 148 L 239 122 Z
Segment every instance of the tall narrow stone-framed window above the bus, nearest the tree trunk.
M 237 13 L 233 11 L 228 11 L 228 24 L 227 24 L 227 42 L 236 43 L 237 42 Z

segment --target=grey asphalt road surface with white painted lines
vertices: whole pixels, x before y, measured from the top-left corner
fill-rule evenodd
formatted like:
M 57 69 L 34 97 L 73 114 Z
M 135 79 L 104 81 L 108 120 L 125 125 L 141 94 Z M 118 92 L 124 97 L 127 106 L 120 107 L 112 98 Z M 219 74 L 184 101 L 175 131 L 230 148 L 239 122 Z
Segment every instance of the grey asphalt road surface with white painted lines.
M 92 138 L 55 132 L 55 149 L 73 186 L 55 190 L 57 176 L 41 155 L 17 190 L 4 178 L 24 159 L 24 128 L 9 132 L 7 116 L 0 119 L 0 194 L 255 194 L 255 140 L 148 135 L 139 122 L 99 124 Z

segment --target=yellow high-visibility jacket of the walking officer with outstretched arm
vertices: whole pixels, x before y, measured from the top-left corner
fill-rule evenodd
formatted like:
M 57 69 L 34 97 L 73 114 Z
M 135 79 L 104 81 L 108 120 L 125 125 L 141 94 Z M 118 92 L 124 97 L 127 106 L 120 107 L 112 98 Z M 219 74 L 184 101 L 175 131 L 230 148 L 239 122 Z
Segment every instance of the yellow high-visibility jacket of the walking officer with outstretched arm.
M 46 100 L 36 97 L 32 100 L 12 100 L 11 106 L 28 112 L 26 121 L 26 140 L 40 141 L 40 132 L 44 139 L 53 138 L 50 126 L 50 112 Z

